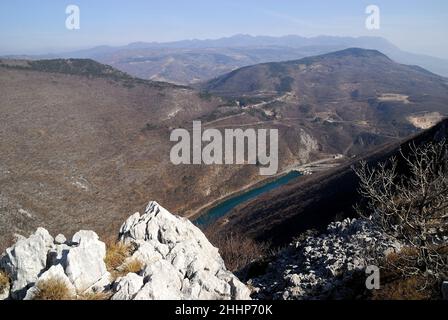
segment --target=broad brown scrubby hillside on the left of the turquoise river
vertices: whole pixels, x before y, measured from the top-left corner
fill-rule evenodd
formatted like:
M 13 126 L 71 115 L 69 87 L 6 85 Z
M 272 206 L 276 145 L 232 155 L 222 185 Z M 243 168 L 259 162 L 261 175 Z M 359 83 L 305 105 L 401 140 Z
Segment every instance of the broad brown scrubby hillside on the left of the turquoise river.
M 126 207 L 137 211 L 148 196 L 179 211 L 209 201 L 202 191 L 215 177 L 212 169 L 172 165 L 169 137 L 171 128 L 190 128 L 193 119 L 215 110 L 219 99 L 91 61 L 2 65 L 3 248 L 13 233 L 37 226 L 108 232 Z M 219 174 L 235 174 L 228 169 Z

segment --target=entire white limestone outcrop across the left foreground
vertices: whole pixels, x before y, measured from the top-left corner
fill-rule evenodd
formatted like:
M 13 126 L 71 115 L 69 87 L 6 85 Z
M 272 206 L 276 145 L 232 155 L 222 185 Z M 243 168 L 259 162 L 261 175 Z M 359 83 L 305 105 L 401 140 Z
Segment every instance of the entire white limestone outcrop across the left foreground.
M 129 217 L 118 238 L 132 248 L 123 265 L 139 261 L 139 272 L 114 277 L 105 263 L 106 245 L 93 231 L 67 240 L 39 228 L 0 256 L 0 269 L 11 279 L 2 298 L 31 300 L 40 282 L 59 280 L 73 299 L 96 293 L 112 300 L 250 299 L 205 235 L 156 202 Z

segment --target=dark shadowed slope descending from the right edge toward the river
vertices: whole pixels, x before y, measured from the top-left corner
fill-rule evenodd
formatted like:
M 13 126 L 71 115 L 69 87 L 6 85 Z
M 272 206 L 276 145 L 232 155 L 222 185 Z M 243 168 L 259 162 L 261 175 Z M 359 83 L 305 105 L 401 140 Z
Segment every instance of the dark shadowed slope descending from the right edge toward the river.
M 448 120 L 405 139 L 390 143 L 347 164 L 324 173 L 296 180 L 281 189 L 252 200 L 221 219 L 211 230 L 217 234 L 239 232 L 246 236 L 276 245 L 288 244 L 293 237 L 310 229 L 322 230 L 343 217 L 356 216 L 354 205 L 360 200 L 358 178 L 351 166 L 361 160 L 375 165 L 398 157 L 400 148 L 409 152 L 409 144 L 416 146 L 430 141 L 448 139 Z M 399 170 L 402 170 L 399 163 Z

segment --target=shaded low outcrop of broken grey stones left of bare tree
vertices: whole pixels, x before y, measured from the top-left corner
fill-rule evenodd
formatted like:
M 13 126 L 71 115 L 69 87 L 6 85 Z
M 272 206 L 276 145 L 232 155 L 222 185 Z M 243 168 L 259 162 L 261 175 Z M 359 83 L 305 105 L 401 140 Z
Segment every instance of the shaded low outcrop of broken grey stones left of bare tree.
M 400 249 L 367 221 L 346 219 L 295 240 L 249 283 L 258 299 L 352 299 L 353 279 L 365 278 L 375 257 Z

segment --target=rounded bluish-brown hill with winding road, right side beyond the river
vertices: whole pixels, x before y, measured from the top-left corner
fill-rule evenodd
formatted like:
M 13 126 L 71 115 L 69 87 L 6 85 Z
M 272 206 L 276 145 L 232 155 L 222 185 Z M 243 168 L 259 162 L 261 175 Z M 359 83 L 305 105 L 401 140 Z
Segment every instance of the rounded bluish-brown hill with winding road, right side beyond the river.
M 347 146 L 353 154 L 357 145 L 405 136 L 413 127 L 425 128 L 428 118 L 435 117 L 435 124 L 448 114 L 448 79 L 357 48 L 245 67 L 205 83 L 203 90 L 279 121 L 357 127 L 364 132 Z

